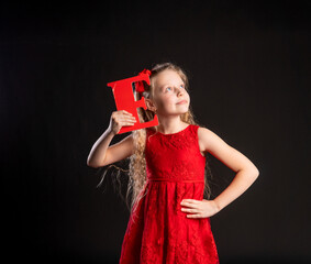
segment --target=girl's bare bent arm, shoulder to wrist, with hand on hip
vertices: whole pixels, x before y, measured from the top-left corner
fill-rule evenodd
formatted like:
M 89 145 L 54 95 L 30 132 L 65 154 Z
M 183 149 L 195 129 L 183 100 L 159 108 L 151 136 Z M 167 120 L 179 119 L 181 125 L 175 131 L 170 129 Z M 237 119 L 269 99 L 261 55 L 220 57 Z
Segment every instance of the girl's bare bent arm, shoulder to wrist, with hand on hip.
M 204 152 L 211 153 L 236 173 L 232 183 L 213 200 L 220 211 L 248 189 L 258 177 L 259 170 L 245 155 L 226 144 L 212 131 L 199 128 L 198 136 Z

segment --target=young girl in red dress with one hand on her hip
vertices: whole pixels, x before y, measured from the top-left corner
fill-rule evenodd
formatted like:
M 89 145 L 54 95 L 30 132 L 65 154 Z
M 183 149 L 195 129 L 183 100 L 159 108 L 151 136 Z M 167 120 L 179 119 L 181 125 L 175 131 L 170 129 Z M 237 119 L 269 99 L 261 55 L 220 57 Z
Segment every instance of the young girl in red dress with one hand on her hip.
M 246 156 L 193 121 L 188 79 L 180 67 L 158 64 L 148 73 L 151 86 L 143 82 L 143 95 L 135 92 L 136 100 L 145 97 L 147 107 L 138 109 L 138 117 L 147 122 L 157 114 L 158 125 L 132 131 L 109 146 L 122 127 L 136 121 L 124 110 L 114 111 L 88 156 L 91 167 L 131 161 L 133 198 L 120 264 L 216 264 L 210 217 L 241 196 L 259 172 Z M 209 190 L 208 153 L 236 173 L 213 200 L 203 199 Z

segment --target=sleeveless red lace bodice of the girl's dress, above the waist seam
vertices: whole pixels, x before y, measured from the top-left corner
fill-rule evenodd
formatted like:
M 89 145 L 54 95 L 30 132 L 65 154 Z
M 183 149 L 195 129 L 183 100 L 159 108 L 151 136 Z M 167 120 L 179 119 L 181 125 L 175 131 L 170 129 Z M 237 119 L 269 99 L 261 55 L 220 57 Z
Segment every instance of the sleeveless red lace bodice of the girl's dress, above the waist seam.
M 188 125 L 173 134 L 147 129 L 147 179 L 204 183 L 206 157 L 199 148 L 197 129 Z

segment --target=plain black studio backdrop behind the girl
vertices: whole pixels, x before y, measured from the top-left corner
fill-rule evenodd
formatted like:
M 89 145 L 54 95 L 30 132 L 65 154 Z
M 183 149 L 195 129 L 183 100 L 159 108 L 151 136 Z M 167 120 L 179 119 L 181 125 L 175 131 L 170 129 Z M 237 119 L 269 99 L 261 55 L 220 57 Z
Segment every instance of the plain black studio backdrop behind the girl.
M 189 75 L 196 119 L 260 173 L 211 218 L 221 263 L 310 262 L 310 1 L 1 3 L 3 257 L 118 263 L 130 215 L 113 169 L 97 188 L 103 168 L 86 164 L 115 111 L 107 82 L 173 62 Z M 211 167 L 216 196 L 235 174 L 213 157 Z

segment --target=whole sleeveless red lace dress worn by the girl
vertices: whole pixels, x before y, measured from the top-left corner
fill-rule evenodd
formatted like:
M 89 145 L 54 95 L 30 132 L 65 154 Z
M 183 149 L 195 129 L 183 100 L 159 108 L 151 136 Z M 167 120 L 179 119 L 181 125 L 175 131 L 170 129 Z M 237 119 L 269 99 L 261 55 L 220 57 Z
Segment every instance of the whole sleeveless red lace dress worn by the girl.
M 146 129 L 146 185 L 132 211 L 120 264 L 216 264 L 210 218 L 187 218 L 182 199 L 203 199 L 206 157 L 199 125 L 163 134 Z

